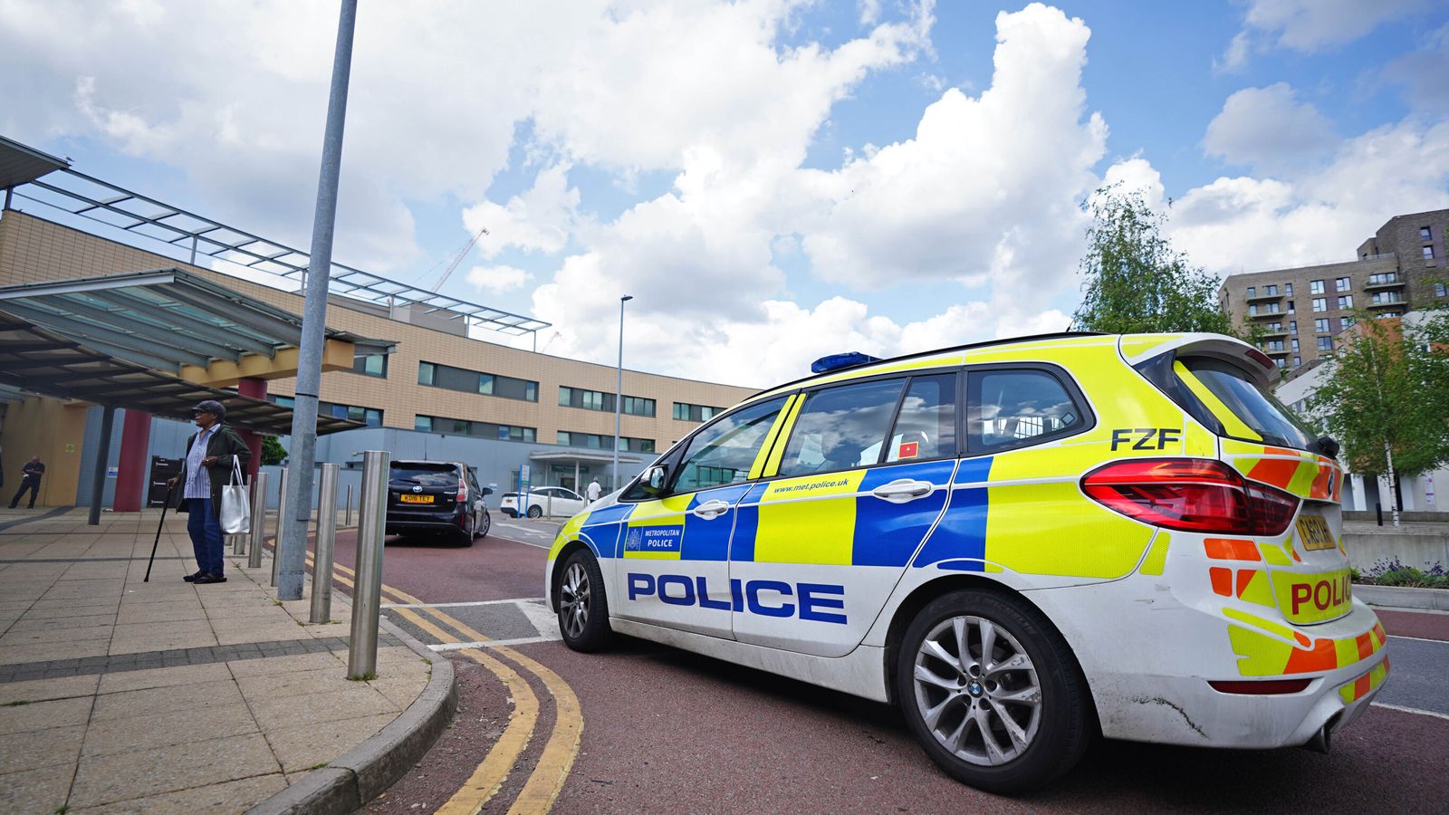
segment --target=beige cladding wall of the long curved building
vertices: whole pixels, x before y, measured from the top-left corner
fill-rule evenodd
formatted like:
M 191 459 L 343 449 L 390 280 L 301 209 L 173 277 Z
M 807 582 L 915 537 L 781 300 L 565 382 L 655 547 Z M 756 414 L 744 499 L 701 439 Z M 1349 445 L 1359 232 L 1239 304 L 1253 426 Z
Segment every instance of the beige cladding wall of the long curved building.
M 7 212 L 0 218 L 0 284 L 94 277 L 162 267 L 185 268 L 293 313 L 303 310 L 303 297 L 298 294 L 191 267 L 174 258 L 135 249 L 29 215 Z M 387 426 L 410 429 L 413 428 L 413 416 L 422 413 L 536 428 L 538 441 L 545 444 L 554 444 L 558 431 L 601 435 L 613 435 L 614 432 L 611 412 L 561 408 L 558 405 L 559 386 L 613 393 L 616 377 L 613 365 L 581 363 L 467 339 L 362 310 L 339 307 L 335 300 L 327 309 L 327 326 L 397 344 L 388 360 L 387 378 L 330 371 L 323 374 L 320 389 L 320 397 L 325 402 L 381 409 L 383 422 Z M 627 347 L 625 352 L 627 354 Z M 420 386 L 417 384 L 420 361 L 538 381 L 539 400 L 532 403 Z M 268 390 L 290 396 L 296 393 L 296 380 L 272 380 L 268 383 Z M 758 389 L 626 370 L 623 390 L 627 396 L 653 399 L 655 416 L 625 415 L 620 419 L 620 434 L 655 439 L 658 448 L 664 450 L 671 441 L 682 438 L 697 426 L 693 422 L 674 421 L 674 402 L 729 408 Z

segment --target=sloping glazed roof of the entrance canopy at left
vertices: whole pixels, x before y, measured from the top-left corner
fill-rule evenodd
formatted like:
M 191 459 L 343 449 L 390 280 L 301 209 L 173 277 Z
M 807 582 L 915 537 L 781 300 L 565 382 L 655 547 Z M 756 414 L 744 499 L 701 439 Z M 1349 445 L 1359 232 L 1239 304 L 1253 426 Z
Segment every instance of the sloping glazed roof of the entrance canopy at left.
M 180 268 L 0 287 L 0 313 L 171 376 L 301 342 L 301 318 Z M 393 344 L 327 329 L 359 348 Z

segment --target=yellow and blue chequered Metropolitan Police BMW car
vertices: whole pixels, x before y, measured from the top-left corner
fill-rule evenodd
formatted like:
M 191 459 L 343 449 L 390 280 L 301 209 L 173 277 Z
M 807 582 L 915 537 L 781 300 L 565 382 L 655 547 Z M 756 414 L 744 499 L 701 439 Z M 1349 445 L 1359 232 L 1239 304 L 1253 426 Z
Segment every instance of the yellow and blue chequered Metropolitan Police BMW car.
M 814 370 L 559 531 L 571 648 L 620 632 L 894 702 L 994 792 L 1097 732 L 1327 750 L 1381 689 L 1337 445 L 1250 345 L 1064 334 Z

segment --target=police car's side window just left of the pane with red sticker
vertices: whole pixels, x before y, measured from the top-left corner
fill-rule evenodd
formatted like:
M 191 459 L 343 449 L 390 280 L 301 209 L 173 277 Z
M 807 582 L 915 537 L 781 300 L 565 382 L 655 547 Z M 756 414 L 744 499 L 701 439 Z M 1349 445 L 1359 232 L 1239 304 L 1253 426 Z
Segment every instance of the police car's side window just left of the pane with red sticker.
M 806 396 L 780 474 L 832 473 L 880 461 L 904 387 L 903 378 L 862 381 Z

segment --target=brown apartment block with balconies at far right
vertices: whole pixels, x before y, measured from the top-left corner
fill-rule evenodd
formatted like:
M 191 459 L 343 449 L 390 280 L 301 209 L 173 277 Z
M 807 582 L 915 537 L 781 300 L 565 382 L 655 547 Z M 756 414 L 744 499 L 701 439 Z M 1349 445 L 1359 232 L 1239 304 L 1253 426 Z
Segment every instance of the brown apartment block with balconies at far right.
M 1397 318 L 1449 302 L 1445 229 L 1445 209 L 1398 215 L 1359 245 L 1358 260 L 1233 274 L 1219 305 L 1245 329 L 1264 331 L 1261 347 L 1279 367 L 1298 368 L 1332 354 L 1364 313 Z

